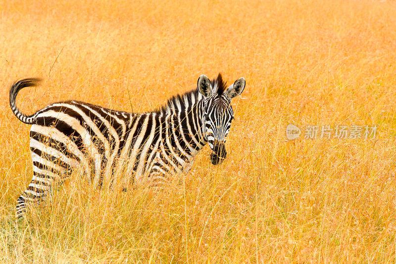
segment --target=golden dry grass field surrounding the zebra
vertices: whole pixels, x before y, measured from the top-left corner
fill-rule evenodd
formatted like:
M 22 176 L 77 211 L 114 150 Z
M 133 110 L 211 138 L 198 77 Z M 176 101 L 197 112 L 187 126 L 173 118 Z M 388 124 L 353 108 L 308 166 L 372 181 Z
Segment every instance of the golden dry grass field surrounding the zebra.
M 396 2 L 0 0 L 0 263 L 395 263 Z M 148 111 L 199 75 L 245 77 L 228 157 L 162 192 L 75 175 L 15 222 L 32 177 L 18 105 Z M 301 138 L 288 141 L 286 126 Z M 313 125 L 375 138 L 304 139 Z

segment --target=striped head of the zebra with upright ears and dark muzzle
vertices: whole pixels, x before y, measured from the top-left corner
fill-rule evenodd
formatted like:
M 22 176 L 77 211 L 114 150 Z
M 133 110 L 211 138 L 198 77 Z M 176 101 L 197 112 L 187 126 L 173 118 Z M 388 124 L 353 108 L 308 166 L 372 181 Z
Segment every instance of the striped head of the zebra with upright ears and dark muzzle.
M 227 156 L 225 141 L 234 119 L 231 100 L 244 91 L 245 83 L 245 78 L 240 78 L 227 88 L 220 73 L 212 81 L 205 75 L 198 78 L 198 91 L 203 96 L 202 133 L 210 146 L 212 164 L 221 163 Z

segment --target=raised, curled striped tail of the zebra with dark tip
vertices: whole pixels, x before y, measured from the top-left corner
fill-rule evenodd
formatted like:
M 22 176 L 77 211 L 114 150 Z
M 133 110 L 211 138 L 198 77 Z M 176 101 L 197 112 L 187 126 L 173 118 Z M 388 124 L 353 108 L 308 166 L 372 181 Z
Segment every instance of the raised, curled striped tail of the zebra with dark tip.
M 22 90 L 25 87 L 32 87 L 32 86 L 37 86 L 37 84 L 41 81 L 39 78 L 30 78 L 30 79 L 23 79 L 20 81 L 15 82 L 12 86 L 11 89 L 9 90 L 9 106 L 11 106 L 12 112 L 15 114 L 15 116 L 21 120 L 22 122 L 26 124 L 33 124 L 34 121 L 36 120 L 36 113 L 32 115 L 26 115 L 22 113 L 18 107 L 16 106 L 16 96 L 18 95 L 18 92 Z

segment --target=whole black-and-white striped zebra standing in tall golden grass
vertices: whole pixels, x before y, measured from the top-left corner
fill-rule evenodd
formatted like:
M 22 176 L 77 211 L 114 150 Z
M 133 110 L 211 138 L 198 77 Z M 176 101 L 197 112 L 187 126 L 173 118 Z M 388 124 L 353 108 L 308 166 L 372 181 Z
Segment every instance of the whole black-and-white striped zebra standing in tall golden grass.
M 50 197 L 54 184 L 76 169 L 93 186 L 126 190 L 130 185 L 163 186 L 189 169 L 207 143 L 211 163 L 220 164 L 234 119 L 231 100 L 246 85 L 244 78 L 227 87 L 220 73 L 213 80 L 201 75 L 196 89 L 171 97 L 151 112 L 130 113 L 73 100 L 26 115 L 16 106 L 16 96 L 39 82 L 23 79 L 9 91 L 15 116 L 32 125 L 33 177 L 17 199 L 17 218 L 28 204 Z

